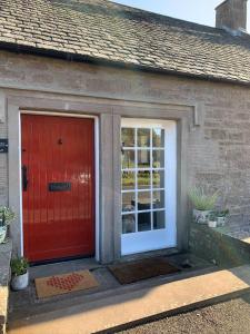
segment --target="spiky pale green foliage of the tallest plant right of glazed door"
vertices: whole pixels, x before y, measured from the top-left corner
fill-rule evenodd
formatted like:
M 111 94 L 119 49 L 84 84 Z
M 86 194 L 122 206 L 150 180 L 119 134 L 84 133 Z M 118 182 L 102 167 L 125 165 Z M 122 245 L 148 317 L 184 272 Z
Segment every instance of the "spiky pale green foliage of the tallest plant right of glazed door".
M 219 193 L 216 191 L 212 195 L 208 195 L 203 188 L 194 187 L 189 190 L 188 195 L 196 209 L 207 212 L 214 208 Z

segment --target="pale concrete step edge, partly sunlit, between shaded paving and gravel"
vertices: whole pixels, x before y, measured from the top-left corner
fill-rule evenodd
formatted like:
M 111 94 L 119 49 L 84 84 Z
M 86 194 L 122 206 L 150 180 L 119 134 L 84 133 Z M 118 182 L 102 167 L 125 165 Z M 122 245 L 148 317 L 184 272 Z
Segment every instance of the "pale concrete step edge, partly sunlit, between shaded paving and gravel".
M 12 322 L 9 334 L 89 334 L 204 306 L 250 291 L 250 265 L 113 295 Z M 110 331 L 109 331 L 110 333 Z

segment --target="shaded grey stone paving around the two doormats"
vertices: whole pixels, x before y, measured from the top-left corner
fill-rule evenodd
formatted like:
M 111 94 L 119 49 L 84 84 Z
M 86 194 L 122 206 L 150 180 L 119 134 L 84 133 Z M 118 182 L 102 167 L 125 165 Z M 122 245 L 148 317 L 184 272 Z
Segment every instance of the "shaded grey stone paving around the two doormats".
M 28 315 L 36 315 L 40 312 L 48 312 L 58 307 L 67 307 L 79 303 L 90 303 L 93 299 L 100 299 L 110 295 L 118 295 L 131 291 L 137 291 L 146 286 L 157 286 L 166 282 L 176 279 L 183 279 L 192 275 L 199 275 L 201 271 L 213 271 L 208 262 L 198 258 L 188 253 L 176 254 L 168 256 L 168 259 L 181 271 L 180 274 L 172 274 L 167 276 L 158 276 L 150 279 L 140 281 L 138 283 L 121 286 L 114 276 L 106 266 L 101 266 L 94 259 L 79 259 L 67 263 L 42 265 L 30 268 L 31 282 L 27 289 L 10 293 L 9 317 L 10 321 L 22 318 Z M 182 264 L 188 262 L 191 264 L 190 268 L 182 268 Z M 157 257 L 156 257 L 157 261 Z M 44 277 L 48 275 L 69 273 L 72 269 L 90 269 L 99 282 L 99 286 L 92 289 L 73 292 L 53 296 L 51 298 L 38 299 L 33 278 Z M 202 272 L 203 273 L 203 272 Z

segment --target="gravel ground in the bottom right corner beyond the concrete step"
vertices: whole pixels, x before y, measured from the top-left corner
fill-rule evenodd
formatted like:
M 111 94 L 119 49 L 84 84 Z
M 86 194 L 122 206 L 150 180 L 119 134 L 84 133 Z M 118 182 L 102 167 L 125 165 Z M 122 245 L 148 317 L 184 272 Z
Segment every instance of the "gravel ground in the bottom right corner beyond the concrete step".
M 226 303 L 171 316 L 122 334 L 250 334 L 250 294 Z

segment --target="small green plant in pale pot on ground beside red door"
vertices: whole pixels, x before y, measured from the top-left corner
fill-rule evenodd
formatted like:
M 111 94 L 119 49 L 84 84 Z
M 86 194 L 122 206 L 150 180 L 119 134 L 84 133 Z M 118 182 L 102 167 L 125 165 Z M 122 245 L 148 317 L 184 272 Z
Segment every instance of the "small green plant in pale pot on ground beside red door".
M 29 284 L 29 263 L 24 257 L 16 257 L 11 259 L 11 287 L 13 291 L 23 289 Z

